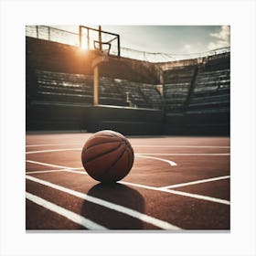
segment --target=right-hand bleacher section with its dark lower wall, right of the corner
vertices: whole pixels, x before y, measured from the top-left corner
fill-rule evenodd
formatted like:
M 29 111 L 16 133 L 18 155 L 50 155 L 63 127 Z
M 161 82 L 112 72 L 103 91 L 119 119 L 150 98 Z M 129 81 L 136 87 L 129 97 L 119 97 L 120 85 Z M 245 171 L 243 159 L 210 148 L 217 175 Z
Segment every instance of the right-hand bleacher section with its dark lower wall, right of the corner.
M 196 67 L 165 70 L 167 133 L 229 134 L 229 59 L 225 53 L 206 57 Z

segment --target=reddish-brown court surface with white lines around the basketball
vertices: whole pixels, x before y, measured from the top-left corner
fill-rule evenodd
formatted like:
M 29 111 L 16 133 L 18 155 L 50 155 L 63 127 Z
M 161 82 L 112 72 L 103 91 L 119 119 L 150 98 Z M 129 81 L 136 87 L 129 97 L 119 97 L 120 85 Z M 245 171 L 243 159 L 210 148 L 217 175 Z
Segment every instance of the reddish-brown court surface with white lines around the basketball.
M 27 133 L 26 228 L 229 230 L 229 137 L 127 136 L 128 176 L 102 185 L 80 154 L 91 133 Z

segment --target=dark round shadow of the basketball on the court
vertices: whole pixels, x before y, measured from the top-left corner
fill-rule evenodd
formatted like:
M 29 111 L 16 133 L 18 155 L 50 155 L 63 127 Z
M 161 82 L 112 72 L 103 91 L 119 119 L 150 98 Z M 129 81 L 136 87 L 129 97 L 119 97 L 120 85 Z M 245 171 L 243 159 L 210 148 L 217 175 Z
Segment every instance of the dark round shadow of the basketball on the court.
M 144 198 L 131 187 L 122 184 L 97 184 L 87 194 L 101 198 L 112 204 L 144 212 Z M 125 210 L 125 209 L 124 209 Z M 81 215 L 106 227 L 107 229 L 143 229 L 143 221 L 117 210 L 84 201 Z

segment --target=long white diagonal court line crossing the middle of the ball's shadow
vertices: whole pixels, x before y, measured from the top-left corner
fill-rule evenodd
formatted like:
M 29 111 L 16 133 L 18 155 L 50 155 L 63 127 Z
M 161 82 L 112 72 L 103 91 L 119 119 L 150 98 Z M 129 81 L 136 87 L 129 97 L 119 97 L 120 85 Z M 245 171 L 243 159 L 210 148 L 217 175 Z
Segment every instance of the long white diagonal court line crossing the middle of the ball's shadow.
M 139 211 L 133 210 L 131 208 L 125 208 L 123 206 L 114 204 L 112 202 L 103 200 L 103 199 L 98 198 L 98 197 L 91 197 L 91 196 L 88 196 L 88 195 L 86 195 L 84 193 L 81 193 L 81 192 L 69 189 L 67 187 L 61 187 L 61 186 L 59 186 L 57 184 L 53 184 L 51 182 L 48 182 L 48 181 L 36 178 L 34 176 L 26 176 L 26 178 L 28 180 L 37 182 L 39 184 L 42 184 L 42 185 L 45 185 L 45 186 L 48 186 L 48 187 L 52 187 L 54 189 L 58 189 L 59 191 L 68 193 L 69 195 L 72 195 L 74 197 L 80 197 L 80 198 L 82 198 L 84 200 L 87 200 L 87 201 L 89 201 L 91 203 L 100 205 L 102 207 L 111 208 L 112 210 L 115 210 L 115 211 L 118 211 L 118 212 L 122 212 L 123 214 L 131 216 L 131 217 L 133 217 L 135 219 L 140 219 L 140 220 L 142 220 L 144 222 L 150 223 L 150 224 L 152 224 L 155 227 L 158 227 L 160 229 L 175 229 L 175 230 L 180 229 L 180 228 L 178 228 L 178 227 L 176 227 L 176 226 L 174 226 L 174 225 L 172 225 L 172 224 L 170 224 L 170 223 L 168 223 L 168 222 L 166 222 L 164 220 L 155 219 L 154 217 L 148 216 L 148 215 L 146 215 L 144 213 L 141 213 Z

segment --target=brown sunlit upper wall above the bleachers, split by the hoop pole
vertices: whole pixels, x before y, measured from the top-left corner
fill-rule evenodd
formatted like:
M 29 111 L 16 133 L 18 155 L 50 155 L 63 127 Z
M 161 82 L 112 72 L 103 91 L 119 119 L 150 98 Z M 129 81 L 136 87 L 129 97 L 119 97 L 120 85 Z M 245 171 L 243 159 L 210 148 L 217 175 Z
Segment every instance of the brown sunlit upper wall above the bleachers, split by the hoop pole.
M 91 64 L 95 54 L 95 51 L 26 37 L 26 61 L 31 69 L 88 75 L 93 73 Z M 153 63 L 122 57 L 112 56 L 109 62 L 100 65 L 101 76 L 136 82 L 159 84 L 160 73 Z

